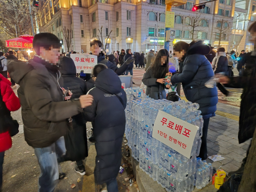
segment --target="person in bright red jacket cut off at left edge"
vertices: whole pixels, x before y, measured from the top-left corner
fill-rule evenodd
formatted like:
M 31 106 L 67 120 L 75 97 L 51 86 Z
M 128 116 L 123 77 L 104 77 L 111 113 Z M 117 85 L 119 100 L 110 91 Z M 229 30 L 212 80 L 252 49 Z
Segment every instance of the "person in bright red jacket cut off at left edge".
M 0 74 L 0 191 L 3 184 L 3 163 L 5 151 L 12 146 L 12 139 L 8 131 L 6 116 L 11 115 L 11 111 L 17 111 L 20 108 L 18 97 L 11 88 L 11 82 Z

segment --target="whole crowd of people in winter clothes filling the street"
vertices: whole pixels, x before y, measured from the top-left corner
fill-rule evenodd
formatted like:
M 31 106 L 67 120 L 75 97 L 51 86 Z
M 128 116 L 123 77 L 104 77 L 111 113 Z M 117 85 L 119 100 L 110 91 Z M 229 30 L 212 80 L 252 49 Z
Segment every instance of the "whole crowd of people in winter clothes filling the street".
M 249 32 L 255 34 L 256 22 Z M 199 154 L 202 160 L 208 158 L 209 120 L 217 110 L 217 87 L 225 91 L 223 84 L 244 88 L 239 143 L 252 138 L 256 125 L 255 90 L 251 89 L 255 86 L 255 70 L 251 70 L 255 64 L 255 51 L 246 54 L 243 50 L 237 59 L 234 51 L 226 54 L 224 48 L 218 48 L 215 53 L 214 48 L 200 40 L 190 44 L 178 41 L 173 53 L 166 49 L 150 50 L 145 56 L 143 52 L 132 54 L 131 49 L 122 49 L 106 55 L 102 42 L 92 40 L 90 52 L 97 56 L 97 65 L 92 74 L 81 72 L 79 78 L 70 53 L 60 58 L 59 42 L 52 33 L 36 34 L 33 39 L 36 54 L 28 63 L 18 60 L 11 50 L 6 57 L 0 52 L 0 111 L 3 114 L 0 116 L 0 190 L 4 154 L 11 147 L 11 136 L 18 129 L 10 112 L 21 106 L 25 140 L 34 148 L 41 169 L 39 191 L 54 191 L 58 180 L 65 177 L 65 173 L 59 173 L 60 162 L 76 161 L 75 171 L 86 174 L 83 159 L 88 156 L 87 121 L 93 125 L 91 140 L 95 142 L 97 152 L 95 183 L 106 183 L 109 192 L 118 191 L 116 177 L 121 164 L 126 107 L 126 94 L 118 76 L 133 75 L 134 68 L 145 68 L 142 82 L 146 85 L 146 95 L 151 98 L 166 99 L 165 90 L 170 89 L 170 85 L 166 84 L 165 77 L 170 76 L 173 85 L 182 83 L 187 100 L 199 103 L 204 119 Z M 234 77 L 230 71 L 236 65 L 240 76 Z M 242 70 L 243 66 L 245 70 Z M 7 79 L 7 71 L 11 82 Z M 206 87 L 205 83 L 214 76 L 219 79 L 217 86 Z M 11 89 L 13 83 L 19 85 L 18 97 Z M 243 172 L 245 163 L 246 158 L 240 169 L 233 173 Z

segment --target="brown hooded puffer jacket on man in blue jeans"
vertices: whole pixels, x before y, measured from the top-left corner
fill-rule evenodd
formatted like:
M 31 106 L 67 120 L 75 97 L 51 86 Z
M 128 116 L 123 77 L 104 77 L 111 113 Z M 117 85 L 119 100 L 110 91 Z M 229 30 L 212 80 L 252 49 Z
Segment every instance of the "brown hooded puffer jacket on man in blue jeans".
M 24 136 L 32 147 L 47 147 L 67 132 L 67 119 L 82 111 L 80 101 L 63 101 L 57 78 L 47 62 L 34 56 L 28 63 L 11 61 L 8 71 L 19 84 L 17 90 L 24 123 Z M 50 64 L 48 64 L 50 65 Z

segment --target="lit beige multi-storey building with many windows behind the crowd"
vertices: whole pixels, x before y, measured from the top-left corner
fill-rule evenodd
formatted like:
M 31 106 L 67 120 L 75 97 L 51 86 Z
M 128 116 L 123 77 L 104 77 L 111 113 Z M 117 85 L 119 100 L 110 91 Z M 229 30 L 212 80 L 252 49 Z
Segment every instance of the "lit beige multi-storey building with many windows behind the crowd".
M 198 3 L 205 3 L 205 8 L 191 11 Z M 234 0 L 188 0 L 172 7 L 175 36 L 169 39 L 170 50 L 179 40 L 204 40 L 230 50 L 234 4 Z M 69 51 L 79 53 L 90 52 L 90 41 L 96 38 L 103 41 L 107 53 L 158 50 L 165 41 L 165 0 L 48 0 L 40 1 L 40 9 L 40 32 L 58 36 L 64 52 L 68 51 L 65 28 L 71 30 Z

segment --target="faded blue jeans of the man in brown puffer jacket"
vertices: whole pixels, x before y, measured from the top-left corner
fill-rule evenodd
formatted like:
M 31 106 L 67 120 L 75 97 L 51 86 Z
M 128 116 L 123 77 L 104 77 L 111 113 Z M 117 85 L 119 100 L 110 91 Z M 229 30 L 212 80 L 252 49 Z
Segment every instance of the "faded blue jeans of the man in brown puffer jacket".
M 52 192 L 58 184 L 59 170 L 56 147 L 65 146 L 65 141 L 60 138 L 56 143 L 58 143 L 57 146 L 53 143 L 48 147 L 34 148 L 41 169 L 38 181 L 39 192 Z

